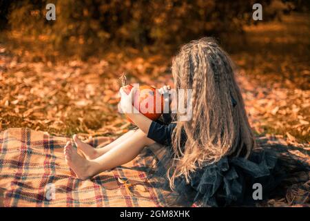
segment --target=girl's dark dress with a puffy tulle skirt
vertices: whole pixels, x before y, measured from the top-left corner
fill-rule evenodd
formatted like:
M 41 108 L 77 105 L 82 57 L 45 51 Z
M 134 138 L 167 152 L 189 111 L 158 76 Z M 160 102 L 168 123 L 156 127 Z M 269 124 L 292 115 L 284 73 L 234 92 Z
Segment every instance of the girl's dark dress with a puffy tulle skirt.
M 149 178 L 157 179 L 155 185 L 164 189 L 169 189 L 167 169 L 174 156 L 171 135 L 176 124 L 171 123 L 171 119 L 169 115 L 163 115 L 163 121 L 152 122 L 147 135 L 167 147 L 165 157 L 158 162 L 156 170 L 149 173 Z M 309 165 L 291 164 L 303 171 L 310 171 Z M 282 191 L 280 184 L 287 173 L 287 158 L 280 158 L 273 150 L 257 148 L 248 159 L 223 157 L 214 164 L 202 166 L 190 175 L 189 182 L 184 177 L 177 177 L 174 192 L 166 198 L 166 205 L 254 206 L 257 202 L 268 200 L 273 193 Z M 262 198 L 254 194 L 260 186 Z

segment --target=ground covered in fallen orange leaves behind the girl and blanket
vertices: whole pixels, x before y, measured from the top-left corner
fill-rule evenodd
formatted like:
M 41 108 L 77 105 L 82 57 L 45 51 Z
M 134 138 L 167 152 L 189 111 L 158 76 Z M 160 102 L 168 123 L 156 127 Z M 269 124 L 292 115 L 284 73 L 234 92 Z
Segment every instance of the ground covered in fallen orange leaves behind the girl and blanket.
M 308 146 L 309 20 L 296 15 L 245 30 L 244 44 L 231 55 L 239 67 L 237 79 L 251 126 L 258 135 L 273 134 L 289 144 Z M 130 127 L 116 111 L 121 73 L 131 82 L 173 85 L 167 55 L 129 48 L 88 61 L 44 62 L 28 50 L 8 48 L 10 42 L 3 41 L 1 130 L 27 126 L 56 135 L 117 136 Z

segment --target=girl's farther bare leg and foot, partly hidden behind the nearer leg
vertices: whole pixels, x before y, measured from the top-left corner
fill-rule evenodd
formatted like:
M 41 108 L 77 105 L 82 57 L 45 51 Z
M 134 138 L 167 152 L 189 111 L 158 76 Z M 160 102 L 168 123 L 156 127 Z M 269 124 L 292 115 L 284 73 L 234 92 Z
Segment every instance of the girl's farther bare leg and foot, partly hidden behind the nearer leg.
M 114 146 L 120 144 L 123 142 L 123 140 L 126 140 L 128 137 L 130 137 L 134 131 L 128 131 L 127 133 L 121 135 L 121 137 L 118 137 L 116 140 L 111 142 L 110 144 L 107 144 L 106 146 L 103 146 L 102 148 L 94 148 L 90 146 L 90 144 L 86 144 L 79 140 L 79 138 L 76 135 L 73 135 L 74 143 L 76 144 L 76 147 L 79 148 L 87 157 L 88 160 L 93 160 L 107 151 L 110 151 L 111 148 Z

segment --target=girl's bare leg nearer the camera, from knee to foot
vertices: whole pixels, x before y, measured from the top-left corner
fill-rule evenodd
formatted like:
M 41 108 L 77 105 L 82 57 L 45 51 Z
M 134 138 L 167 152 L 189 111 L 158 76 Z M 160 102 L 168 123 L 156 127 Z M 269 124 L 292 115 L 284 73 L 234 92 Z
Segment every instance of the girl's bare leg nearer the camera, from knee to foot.
M 76 173 L 76 176 L 81 180 L 85 180 L 102 171 L 130 162 L 145 146 L 150 144 L 154 144 L 154 141 L 138 129 L 123 142 L 94 160 L 87 160 L 81 157 L 76 152 L 76 149 L 72 148 L 72 145 L 68 143 L 64 149 L 65 160 L 74 173 Z

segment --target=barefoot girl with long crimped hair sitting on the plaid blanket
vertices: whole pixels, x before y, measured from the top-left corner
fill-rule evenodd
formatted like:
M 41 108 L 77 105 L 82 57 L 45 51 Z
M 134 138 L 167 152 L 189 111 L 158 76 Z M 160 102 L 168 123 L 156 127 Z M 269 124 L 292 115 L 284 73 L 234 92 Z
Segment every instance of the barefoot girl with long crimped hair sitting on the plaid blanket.
M 132 113 L 128 110 L 134 108 L 134 89 L 127 95 L 121 88 L 120 107 L 138 129 L 99 149 L 74 135 L 86 158 L 68 142 L 65 161 L 85 180 L 130 162 L 145 146 L 157 142 L 171 147 L 168 182 L 183 196 L 182 202 L 218 206 L 245 200 L 256 178 L 269 177 L 275 158 L 251 155 L 249 160 L 254 136 L 229 56 L 214 39 L 192 41 L 174 57 L 172 75 L 177 92 L 192 89 L 191 119 L 172 123 L 172 117 L 164 114 L 164 122 L 154 122 L 141 113 Z M 170 87 L 164 86 L 161 93 L 168 90 Z

